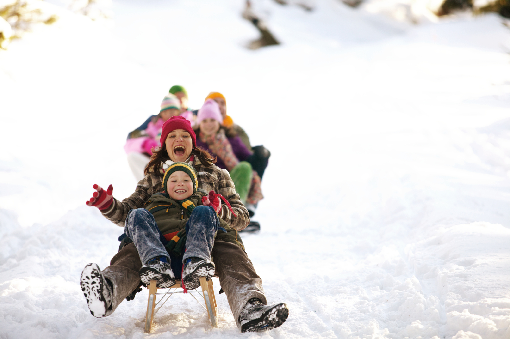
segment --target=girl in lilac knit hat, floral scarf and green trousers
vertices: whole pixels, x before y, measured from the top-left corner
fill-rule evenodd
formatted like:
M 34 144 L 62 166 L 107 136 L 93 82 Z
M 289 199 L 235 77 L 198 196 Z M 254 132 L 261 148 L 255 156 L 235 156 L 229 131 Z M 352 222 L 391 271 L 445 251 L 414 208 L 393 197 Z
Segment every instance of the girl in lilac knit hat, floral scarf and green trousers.
M 252 152 L 233 129 L 221 126 L 223 118 L 215 100 L 207 99 L 203 103 L 196 122 L 197 146 L 213 153 L 217 157 L 216 166 L 230 172 L 236 192 L 252 216 L 254 206 L 263 198 L 260 176 L 246 161 Z

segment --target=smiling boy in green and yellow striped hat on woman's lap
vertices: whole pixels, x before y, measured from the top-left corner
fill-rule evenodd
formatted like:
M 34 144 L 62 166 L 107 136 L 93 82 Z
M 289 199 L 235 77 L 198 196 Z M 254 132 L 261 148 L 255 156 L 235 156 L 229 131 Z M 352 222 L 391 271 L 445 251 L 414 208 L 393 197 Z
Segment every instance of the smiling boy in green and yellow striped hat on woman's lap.
M 221 195 L 199 190 L 196 170 L 183 162 L 169 165 L 163 176 L 163 189 L 164 192 L 153 194 L 145 206 L 152 216 L 149 219 L 154 220 L 149 226 L 155 236 L 159 233 L 159 241 L 140 238 L 135 244 L 145 264 L 139 271 L 140 279 L 146 284 L 157 280 L 158 287 L 168 288 L 182 273 L 185 288 L 194 290 L 200 285 L 200 277 L 210 280 L 214 275 L 211 251 L 217 230 L 226 232 L 230 228 L 218 217 Z M 145 223 L 150 223 L 147 218 Z M 137 227 L 128 229 L 127 236 L 131 238 Z

